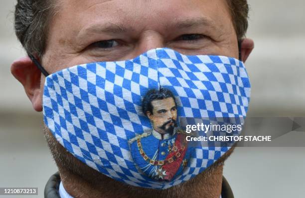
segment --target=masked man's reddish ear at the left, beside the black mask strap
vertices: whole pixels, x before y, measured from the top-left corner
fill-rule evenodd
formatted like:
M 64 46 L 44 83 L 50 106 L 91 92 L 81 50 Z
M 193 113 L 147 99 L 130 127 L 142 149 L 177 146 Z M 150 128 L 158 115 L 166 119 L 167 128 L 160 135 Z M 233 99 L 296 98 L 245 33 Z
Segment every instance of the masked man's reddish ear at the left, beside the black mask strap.
M 40 70 L 34 65 L 29 57 L 23 57 L 15 60 L 11 64 L 10 71 L 23 85 L 25 93 L 32 102 L 34 110 L 41 112 L 42 97 L 40 95 Z

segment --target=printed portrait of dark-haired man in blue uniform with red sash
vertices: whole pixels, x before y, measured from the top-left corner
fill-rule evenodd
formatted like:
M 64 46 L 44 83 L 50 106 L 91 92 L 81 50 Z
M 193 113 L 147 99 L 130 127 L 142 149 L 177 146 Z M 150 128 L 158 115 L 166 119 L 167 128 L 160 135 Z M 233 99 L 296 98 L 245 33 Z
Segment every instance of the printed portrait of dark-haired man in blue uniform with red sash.
M 134 161 L 147 176 L 170 181 L 186 166 L 190 149 L 182 130 L 177 127 L 176 101 L 166 88 L 147 92 L 143 113 L 152 122 L 152 130 L 129 140 Z

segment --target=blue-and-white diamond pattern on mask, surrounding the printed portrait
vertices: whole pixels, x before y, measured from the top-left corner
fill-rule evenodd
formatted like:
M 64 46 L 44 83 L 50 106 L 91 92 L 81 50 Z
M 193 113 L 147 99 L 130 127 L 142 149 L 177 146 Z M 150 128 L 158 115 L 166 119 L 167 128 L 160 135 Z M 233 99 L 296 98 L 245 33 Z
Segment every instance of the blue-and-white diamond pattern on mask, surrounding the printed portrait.
M 179 117 L 245 117 L 249 105 L 250 82 L 242 62 L 154 49 L 129 61 L 73 66 L 49 75 L 44 122 L 88 166 L 129 185 L 166 189 L 204 171 L 230 147 L 197 146 L 182 175 L 171 182 L 141 174 L 128 140 L 152 128 L 141 110 L 142 97 L 160 87 L 175 95 Z

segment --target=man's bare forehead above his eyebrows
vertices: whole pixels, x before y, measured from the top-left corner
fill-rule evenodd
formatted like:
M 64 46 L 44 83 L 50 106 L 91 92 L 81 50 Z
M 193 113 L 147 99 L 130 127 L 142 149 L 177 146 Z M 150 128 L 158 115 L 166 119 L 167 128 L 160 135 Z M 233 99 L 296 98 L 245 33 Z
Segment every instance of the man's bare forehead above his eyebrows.
M 230 20 L 226 0 L 59 1 L 55 18 L 57 24 L 75 28 L 75 31 L 84 30 L 94 24 L 112 23 L 118 26 L 125 24 L 130 27 L 129 30 L 152 29 L 162 32 L 167 31 L 164 27 L 170 29 L 170 25 L 177 21 L 190 23 L 194 18 L 206 19 L 205 22 L 221 28 Z

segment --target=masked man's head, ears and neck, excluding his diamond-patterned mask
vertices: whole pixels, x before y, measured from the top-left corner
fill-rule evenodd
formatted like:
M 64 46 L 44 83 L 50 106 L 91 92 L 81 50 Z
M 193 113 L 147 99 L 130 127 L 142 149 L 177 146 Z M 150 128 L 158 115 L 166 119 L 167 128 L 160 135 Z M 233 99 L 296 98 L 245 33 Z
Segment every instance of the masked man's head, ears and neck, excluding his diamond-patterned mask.
M 84 63 L 132 59 L 159 47 L 186 55 L 240 57 L 245 62 L 254 47 L 244 38 L 247 16 L 246 0 L 18 0 L 15 31 L 27 54 L 49 73 Z M 11 72 L 33 109 L 41 112 L 45 77 L 39 69 L 25 57 L 12 64 Z M 62 196 L 75 198 L 232 196 L 225 195 L 229 188 L 222 178 L 223 162 L 232 149 L 194 179 L 158 191 L 100 174 L 67 152 L 47 128 L 44 132 L 60 174 L 47 184 L 46 197 L 58 197 L 59 184 Z

